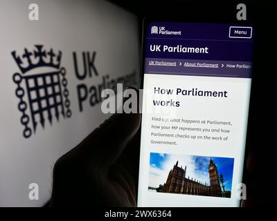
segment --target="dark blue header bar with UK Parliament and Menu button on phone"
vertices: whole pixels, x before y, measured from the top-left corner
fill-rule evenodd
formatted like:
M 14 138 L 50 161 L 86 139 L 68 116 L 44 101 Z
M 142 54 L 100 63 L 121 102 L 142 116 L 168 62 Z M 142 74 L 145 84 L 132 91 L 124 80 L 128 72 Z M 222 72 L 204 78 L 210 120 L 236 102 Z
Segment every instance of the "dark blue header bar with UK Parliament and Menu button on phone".
M 217 23 L 153 22 L 145 57 L 220 61 L 253 60 L 253 28 Z

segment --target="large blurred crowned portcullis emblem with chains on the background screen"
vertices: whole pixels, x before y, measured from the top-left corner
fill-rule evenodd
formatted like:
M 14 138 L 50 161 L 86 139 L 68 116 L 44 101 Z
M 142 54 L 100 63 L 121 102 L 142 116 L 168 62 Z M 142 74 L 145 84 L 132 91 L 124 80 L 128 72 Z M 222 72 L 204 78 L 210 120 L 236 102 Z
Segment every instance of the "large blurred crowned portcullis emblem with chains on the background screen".
M 22 55 L 16 51 L 11 54 L 20 70 L 12 79 L 17 84 L 15 95 L 19 99 L 23 136 L 30 137 L 39 124 L 44 128 L 46 122 L 52 124 L 61 117 L 71 117 L 66 69 L 60 67 L 62 52 L 35 45 L 33 51 L 24 48 Z

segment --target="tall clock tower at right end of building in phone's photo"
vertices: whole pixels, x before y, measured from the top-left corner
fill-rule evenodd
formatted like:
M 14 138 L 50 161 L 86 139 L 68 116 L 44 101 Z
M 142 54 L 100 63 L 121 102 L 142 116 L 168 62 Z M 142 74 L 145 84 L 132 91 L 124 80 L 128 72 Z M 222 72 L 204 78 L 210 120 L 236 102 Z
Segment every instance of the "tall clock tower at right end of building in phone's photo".
M 222 197 L 220 180 L 218 179 L 217 173 L 217 166 L 213 162 L 212 158 L 210 160 L 210 164 L 208 164 L 208 175 L 210 177 L 211 195 Z

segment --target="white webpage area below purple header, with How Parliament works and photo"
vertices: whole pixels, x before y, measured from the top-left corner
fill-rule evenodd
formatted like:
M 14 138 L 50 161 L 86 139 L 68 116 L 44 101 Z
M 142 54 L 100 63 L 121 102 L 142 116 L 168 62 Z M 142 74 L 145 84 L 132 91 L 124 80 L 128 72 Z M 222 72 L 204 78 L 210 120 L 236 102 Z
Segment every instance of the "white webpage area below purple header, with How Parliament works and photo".
M 239 206 L 251 79 L 147 73 L 143 85 L 138 206 Z

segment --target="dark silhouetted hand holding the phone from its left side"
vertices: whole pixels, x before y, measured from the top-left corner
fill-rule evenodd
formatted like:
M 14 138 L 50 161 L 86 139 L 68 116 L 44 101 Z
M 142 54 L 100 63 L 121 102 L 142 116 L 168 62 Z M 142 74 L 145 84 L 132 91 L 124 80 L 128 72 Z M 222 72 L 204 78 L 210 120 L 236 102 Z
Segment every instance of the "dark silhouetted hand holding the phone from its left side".
M 140 114 L 115 114 L 53 170 L 51 206 L 136 206 Z

